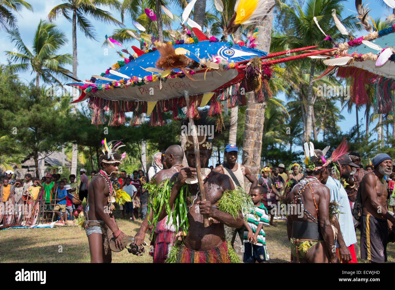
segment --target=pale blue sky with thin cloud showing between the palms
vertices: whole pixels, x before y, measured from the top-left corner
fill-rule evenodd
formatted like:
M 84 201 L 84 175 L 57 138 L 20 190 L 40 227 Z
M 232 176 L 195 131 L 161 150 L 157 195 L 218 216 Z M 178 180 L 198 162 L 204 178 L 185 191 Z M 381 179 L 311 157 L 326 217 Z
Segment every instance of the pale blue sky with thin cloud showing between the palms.
M 28 0 L 34 9 L 34 12 L 23 9 L 17 14 L 19 31 L 21 33 L 22 39 L 25 41 L 25 45 L 31 48 L 32 39 L 34 36 L 34 32 L 37 28 L 37 25 L 40 19 L 46 19 L 51 8 L 55 7 L 58 4 L 61 4 L 63 1 L 61 0 Z M 373 19 L 377 19 L 379 17 L 385 18 L 385 16 L 391 14 L 387 8 L 380 6 L 378 1 L 372 1 L 369 4 L 369 7 L 372 11 L 369 13 Z M 355 11 L 355 2 L 347 1 L 344 2 L 344 15 L 354 15 L 355 13 L 349 11 Z M 207 1 L 207 10 L 211 10 L 211 1 Z M 171 9 L 174 14 L 180 15 L 181 11 L 177 11 L 176 9 Z M 391 11 L 392 12 L 392 11 Z M 117 19 L 120 19 L 120 15 L 115 13 L 114 16 Z M 100 23 L 98 21 L 92 20 L 96 28 L 96 33 L 100 41 L 93 41 L 87 39 L 85 35 L 77 30 L 77 49 L 78 49 L 78 68 L 77 68 L 77 76 L 80 79 L 89 79 L 93 74 L 100 74 L 105 71 L 109 65 L 115 63 L 119 60 L 119 57 L 114 51 L 109 50 L 108 55 L 105 55 L 104 49 L 102 47 L 102 41 L 104 41 L 105 35 L 111 35 L 113 30 L 116 28 L 114 25 L 107 25 Z M 71 23 L 68 22 L 64 17 L 60 16 L 55 20 L 55 24 L 58 25 L 67 35 L 68 37 L 68 45 L 64 46 L 59 53 L 70 53 L 72 54 L 72 39 L 71 39 Z M 125 26 L 126 28 L 134 28 L 132 25 L 132 20 L 128 17 L 125 17 Z M 364 34 L 364 31 L 361 32 L 361 35 Z M 359 35 L 358 35 L 359 36 Z M 127 43 L 130 48 L 131 45 L 138 46 L 137 41 Z M 8 34 L 2 32 L 0 35 L 0 63 L 6 63 L 6 56 L 3 53 L 6 50 L 12 51 L 14 45 L 9 42 Z M 71 71 L 71 66 L 68 67 Z M 30 81 L 33 79 L 33 76 L 30 73 L 25 73 L 21 75 L 22 78 Z M 66 82 L 65 82 L 66 83 Z M 280 99 L 284 99 L 284 96 L 278 96 Z M 362 117 L 363 111 L 359 112 L 359 116 Z M 355 125 L 355 108 L 353 111 L 348 114 L 346 110 L 342 111 L 342 115 L 344 115 L 345 120 L 339 123 L 339 126 L 343 131 L 349 130 L 352 126 Z M 363 118 L 361 126 L 364 126 L 365 118 Z M 374 128 L 376 122 L 371 125 L 371 129 Z

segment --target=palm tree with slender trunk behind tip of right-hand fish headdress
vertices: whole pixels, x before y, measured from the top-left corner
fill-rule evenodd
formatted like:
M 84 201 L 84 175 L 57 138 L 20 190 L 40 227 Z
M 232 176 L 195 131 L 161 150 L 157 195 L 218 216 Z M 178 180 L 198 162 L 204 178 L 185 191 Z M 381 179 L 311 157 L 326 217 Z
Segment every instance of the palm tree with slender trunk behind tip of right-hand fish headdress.
M 305 8 L 299 6 L 298 3 L 294 3 L 293 7 L 290 7 L 280 2 L 281 12 L 286 14 L 286 18 L 290 23 L 290 29 L 292 34 L 281 35 L 278 40 L 282 43 L 288 44 L 289 48 L 297 48 L 303 46 L 320 45 L 320 47 L 329 47 L 329 42 L 320 41 L 323 39 L 322 32 L 318 29 L 314 23 L 313 17 L 316 17 L 320 23 L 321 28 L 325 33 L 331 35 L 332 39 L 339 41 L 343 36 L 338 32 L 337 27 L 332 19 L 332 9 L 336 9 L 336 13 L 342 11 L 342 2 L 344 0 L 308 0 L 305 4 Z M 342 19 L 342 23 L 348 29 L 354 29 L 355 23 L 352 17 Z M 311 138 L 311 131 L 313 127 L 313 107 L 314 107 L 314 95 L 313 95 L 313 80 L 314 72 L 318 62 L 314 59 L 303 60 L 302 62 L 309 62 L 308 72 L 308 87 L 305 94 L 305 140 L 308 141 Z

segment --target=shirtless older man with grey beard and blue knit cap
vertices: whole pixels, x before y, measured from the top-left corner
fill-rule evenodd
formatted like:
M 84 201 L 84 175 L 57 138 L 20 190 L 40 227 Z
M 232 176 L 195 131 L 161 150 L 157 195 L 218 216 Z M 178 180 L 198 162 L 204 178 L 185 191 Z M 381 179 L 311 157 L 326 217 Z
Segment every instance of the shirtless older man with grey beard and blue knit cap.
M 387 183 L 384 175 L 392 171 L 392 158 L 379 153 L 372 159 L 374 171 L 361 181 L 361 258 L 372 263 L 387 261 L 388 224 L 395 218 L 387 210 Z

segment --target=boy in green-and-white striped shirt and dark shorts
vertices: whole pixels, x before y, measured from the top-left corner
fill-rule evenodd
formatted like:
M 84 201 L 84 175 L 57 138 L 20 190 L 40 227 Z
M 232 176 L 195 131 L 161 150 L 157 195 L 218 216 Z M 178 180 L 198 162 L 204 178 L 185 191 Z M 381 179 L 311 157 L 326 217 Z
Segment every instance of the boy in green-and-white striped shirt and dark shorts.
M 252 211 L 248 214 L 248 220 L 244 220 L 244 255 L 243 262 L 245 263 L 263 263 L 269 260 L 269 253 L 267 252 L 265 242 L 265 232 L 263 225 L 269 226 L 269 217 L 267 216 L 267 209 L 261 203 L 263 197 L 263 188 L 255 186 L 250 190 L 252 203 L 255 206 L 255 212 L 258 217 L 254 216 Z

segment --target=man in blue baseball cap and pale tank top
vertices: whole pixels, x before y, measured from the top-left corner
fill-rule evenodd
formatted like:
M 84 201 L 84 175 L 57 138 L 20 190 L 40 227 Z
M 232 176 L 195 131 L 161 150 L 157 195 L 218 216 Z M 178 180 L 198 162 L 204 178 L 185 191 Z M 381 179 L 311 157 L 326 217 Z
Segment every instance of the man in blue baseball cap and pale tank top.
M 240 186 L 241 188 L 245 189 L 244 177 L 246 177 L 252 183 L 250 188 L 254 188 L 258 185 L 258 179 L 252 175 L 247 167 L 237 163 L 238 152 L 239 149 L 235 144 L 227 145 L 225 147 L 226 162 L 219 165 L 218 167 L 215 167 L 213 170 L 228 175 L 233 181 L 235 188 Z M 241 255 L 243 251 L 244 227 L 236 229 L 224 225 L 224 230 L 225 238 L 231 242 L 237 255 Z M 237 238 L 237 236 L 239 236 L 239 238 Z

